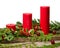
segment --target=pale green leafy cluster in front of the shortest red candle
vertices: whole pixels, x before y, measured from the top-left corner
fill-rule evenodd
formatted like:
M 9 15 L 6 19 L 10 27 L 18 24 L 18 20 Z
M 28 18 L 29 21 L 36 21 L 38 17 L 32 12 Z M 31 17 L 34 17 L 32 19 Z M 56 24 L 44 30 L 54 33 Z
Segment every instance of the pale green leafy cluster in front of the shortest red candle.
M 10 29 L 2 28 L 0 29 L 0 41 L 12 41 L 15 37 L 18 37 L 19 33 L 17 31 L 13 32 Z

